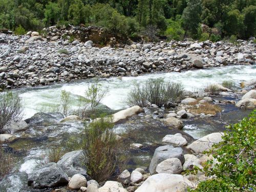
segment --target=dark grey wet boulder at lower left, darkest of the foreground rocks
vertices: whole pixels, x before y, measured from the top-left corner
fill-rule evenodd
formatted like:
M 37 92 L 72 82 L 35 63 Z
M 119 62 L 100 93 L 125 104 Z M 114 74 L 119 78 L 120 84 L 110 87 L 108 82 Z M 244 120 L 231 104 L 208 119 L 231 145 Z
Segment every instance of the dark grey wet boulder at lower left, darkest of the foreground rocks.
M 50 188 L 68 184 L 69 177 L 56 163 L 48 163 L 33 170 L 28 185 L 33 188 Z

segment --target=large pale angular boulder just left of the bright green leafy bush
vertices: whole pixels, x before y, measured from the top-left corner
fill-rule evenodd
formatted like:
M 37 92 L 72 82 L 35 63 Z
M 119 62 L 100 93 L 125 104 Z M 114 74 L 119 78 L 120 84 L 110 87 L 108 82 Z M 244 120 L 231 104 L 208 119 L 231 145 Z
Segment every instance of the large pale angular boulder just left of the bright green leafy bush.
M 203 153 L 209 150 L 213 144 L 221 142 L 223 135 L 224 133 L 211 133 L 194 141 L 188 145 L 187 148 L 195 153 Z

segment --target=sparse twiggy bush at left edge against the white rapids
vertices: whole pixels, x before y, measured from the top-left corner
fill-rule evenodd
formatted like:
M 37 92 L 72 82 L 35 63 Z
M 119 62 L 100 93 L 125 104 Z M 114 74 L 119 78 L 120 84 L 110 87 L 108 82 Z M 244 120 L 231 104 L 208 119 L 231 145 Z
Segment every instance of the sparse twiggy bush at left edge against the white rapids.
M 23 105 L 22 100 L 17 94 L 5 92 L 0 94 L 0 134 L 3 127 L 10 120 L 18 120 L 22 118 Z

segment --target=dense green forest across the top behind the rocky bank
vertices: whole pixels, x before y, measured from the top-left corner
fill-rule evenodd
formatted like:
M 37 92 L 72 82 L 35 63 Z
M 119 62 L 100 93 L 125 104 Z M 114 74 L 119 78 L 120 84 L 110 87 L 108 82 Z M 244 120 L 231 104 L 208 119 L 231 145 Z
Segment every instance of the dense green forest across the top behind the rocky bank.
M 256 33 L 256 0 L 0 0 L 0 29 L 20 34 L 68 24 L 151 40 L 248 39 Z

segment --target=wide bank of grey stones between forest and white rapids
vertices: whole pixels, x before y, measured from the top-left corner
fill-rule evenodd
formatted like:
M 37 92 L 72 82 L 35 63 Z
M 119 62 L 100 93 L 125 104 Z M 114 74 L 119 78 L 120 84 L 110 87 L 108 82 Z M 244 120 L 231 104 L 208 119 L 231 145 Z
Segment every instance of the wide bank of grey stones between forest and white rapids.
M 52 33 L 51 33 L 52 34 Z M 132 44 L 124 48 L 94 47 L 88 41 L 70 41 L 60 32 L 55 38 L 37 32 L 15 36 L 0 34 L 0 88 L 18 88 L 110 76 L 251 65 L 255 44 L 239 40 L 226 42 L 170 41 Z M 112 39 L 112 41 L 115 41 Z

